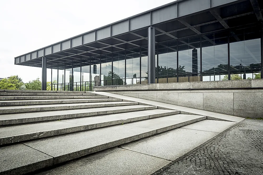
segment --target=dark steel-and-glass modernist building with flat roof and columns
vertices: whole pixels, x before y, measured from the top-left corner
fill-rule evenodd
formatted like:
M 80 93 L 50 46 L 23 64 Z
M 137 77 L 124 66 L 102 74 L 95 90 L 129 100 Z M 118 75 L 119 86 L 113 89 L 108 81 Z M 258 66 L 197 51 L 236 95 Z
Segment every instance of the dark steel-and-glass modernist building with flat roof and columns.
M 219 81 L 263 70 L 261 0 L 178 0 L 15 58 L 52 89 Z M 261 74 L 261 78 L 263 75 Z M 54 81 L 57 80 L 57 81 Z

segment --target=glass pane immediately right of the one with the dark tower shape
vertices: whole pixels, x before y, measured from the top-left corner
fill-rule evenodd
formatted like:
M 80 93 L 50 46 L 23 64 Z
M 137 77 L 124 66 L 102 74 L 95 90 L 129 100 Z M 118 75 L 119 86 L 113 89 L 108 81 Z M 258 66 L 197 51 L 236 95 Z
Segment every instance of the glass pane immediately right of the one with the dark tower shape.
M 228 32 L 202 36 L 203 81 L 228 79 Z

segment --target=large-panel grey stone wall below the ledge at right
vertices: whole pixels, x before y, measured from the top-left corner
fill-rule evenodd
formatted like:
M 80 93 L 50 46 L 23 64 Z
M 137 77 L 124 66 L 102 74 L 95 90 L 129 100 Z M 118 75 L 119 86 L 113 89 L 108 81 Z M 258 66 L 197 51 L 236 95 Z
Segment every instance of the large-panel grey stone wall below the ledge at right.
M 234 115 L 243 118 L 260 118 L 263 114 L 263 107 L 255 104 L 263 103 L 263 91 L 261 91 L 262 90 L 211 90 L 211 92 L 209 90 L 121 91 L 121 93 L 124 96 L 138 94 L 140 99 L 206 110 L 214 113 Z M 155 99 L 156 96 L 157 99 Z

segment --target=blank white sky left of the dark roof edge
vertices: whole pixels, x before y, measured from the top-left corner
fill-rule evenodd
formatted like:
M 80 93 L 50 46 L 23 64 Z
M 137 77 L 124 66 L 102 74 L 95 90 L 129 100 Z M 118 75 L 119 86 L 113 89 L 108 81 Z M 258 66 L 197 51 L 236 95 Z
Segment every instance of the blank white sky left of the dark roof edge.
M 41 79 L 41 68 L 14 65 L 14 57 L 173 1 L 1 0 L 0 78 Z

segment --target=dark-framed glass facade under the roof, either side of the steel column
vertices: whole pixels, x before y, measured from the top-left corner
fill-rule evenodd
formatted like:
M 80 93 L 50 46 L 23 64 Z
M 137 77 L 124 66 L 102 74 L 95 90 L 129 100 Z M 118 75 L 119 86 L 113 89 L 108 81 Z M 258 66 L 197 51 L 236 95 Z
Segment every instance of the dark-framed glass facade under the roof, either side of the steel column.
M 253 79 L 261 73 L 259 26 L 221 30 L 156 44 L 156 83 Z M 52 89 L 92 91 L 102 86 L 148 83 L 148 46 L 52 67 Z

